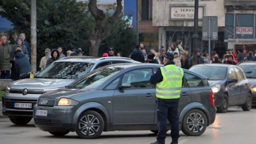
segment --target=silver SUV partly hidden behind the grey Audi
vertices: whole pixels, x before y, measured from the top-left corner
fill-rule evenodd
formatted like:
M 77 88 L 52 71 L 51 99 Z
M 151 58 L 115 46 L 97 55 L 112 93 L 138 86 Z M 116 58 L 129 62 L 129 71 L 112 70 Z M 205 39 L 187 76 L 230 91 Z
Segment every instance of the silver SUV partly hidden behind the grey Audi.
M 68 86 L 89 71 L 116 63 L 138 62 L 126 57 L 71 56 L 59 59 L 35 78 L 10 83 L 3 95 L 3 114 L 14 124 L 27 124 L 33 117 L 33 107 L 42 93 Z

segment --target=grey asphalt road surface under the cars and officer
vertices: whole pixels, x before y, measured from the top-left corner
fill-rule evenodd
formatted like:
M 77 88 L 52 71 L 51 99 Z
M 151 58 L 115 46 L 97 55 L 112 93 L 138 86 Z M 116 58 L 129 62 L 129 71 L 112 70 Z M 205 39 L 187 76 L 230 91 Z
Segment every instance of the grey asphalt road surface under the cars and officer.
M 255 143 L 256 109 L 243 112 L 241 107 L 229 107 L 228 113 L 217 114 L 214 124 L 207 127 L 198 137 L 186 136 L 180 131 L 179 144 L 182 143 Z M 169 133 L 170 131 L 168 131 Z M 52 136 L 41 131 L 31 121 L 26 126 L 16 126 L 8 118 L 0 118 L 0 143 L 150 143 L 156 136 L 151 131 L 108 131 L 98 139 L 80 139 L 76 133 L 63 137 Z M 166 143 L 170 143 L 169 134 Z

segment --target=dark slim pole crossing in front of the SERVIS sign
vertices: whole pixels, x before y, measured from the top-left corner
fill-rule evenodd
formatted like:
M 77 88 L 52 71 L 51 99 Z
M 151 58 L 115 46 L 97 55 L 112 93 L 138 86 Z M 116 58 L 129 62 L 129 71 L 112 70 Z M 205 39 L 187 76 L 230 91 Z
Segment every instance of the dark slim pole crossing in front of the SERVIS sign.
M 194 11 L 194 33 L 193 33 L 193 66 L 197 64 L 197 48 L 198 48 L 198 0 L 195 0 Z

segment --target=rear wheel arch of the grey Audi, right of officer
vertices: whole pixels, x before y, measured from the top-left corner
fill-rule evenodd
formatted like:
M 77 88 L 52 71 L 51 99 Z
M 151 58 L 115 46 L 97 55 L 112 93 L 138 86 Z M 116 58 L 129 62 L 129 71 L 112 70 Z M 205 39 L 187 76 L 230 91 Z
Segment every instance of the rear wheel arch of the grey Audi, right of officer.
M 199 103 L 199 102 L 193 102 L 193 103 L 190 103 L 190 104 L 186 105 L 184 107 L 184 109 L 182 110 L 182 112 L 180 112 L 180 114 L 179 114 L 179 129 L 180 130 L 182 129 L 184 116 L 186 115 L 187 112 L 189 112 L 193 109 L 201 110 L 207 117 L 207 126 L 210 125 L 210 115 L 209 115 L 209 112 L 206 109 L 206 107 L 203 104 Z

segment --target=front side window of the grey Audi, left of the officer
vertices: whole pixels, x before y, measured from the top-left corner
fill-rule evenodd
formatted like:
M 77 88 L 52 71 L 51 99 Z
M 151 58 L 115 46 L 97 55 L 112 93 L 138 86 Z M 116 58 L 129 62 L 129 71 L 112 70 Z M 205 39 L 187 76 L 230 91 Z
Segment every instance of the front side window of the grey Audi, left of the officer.
M 131 83 L 131 88 L 153 88 L 150 83 L 152 68 L 136 69 L 123 75 L 122 83 Z

